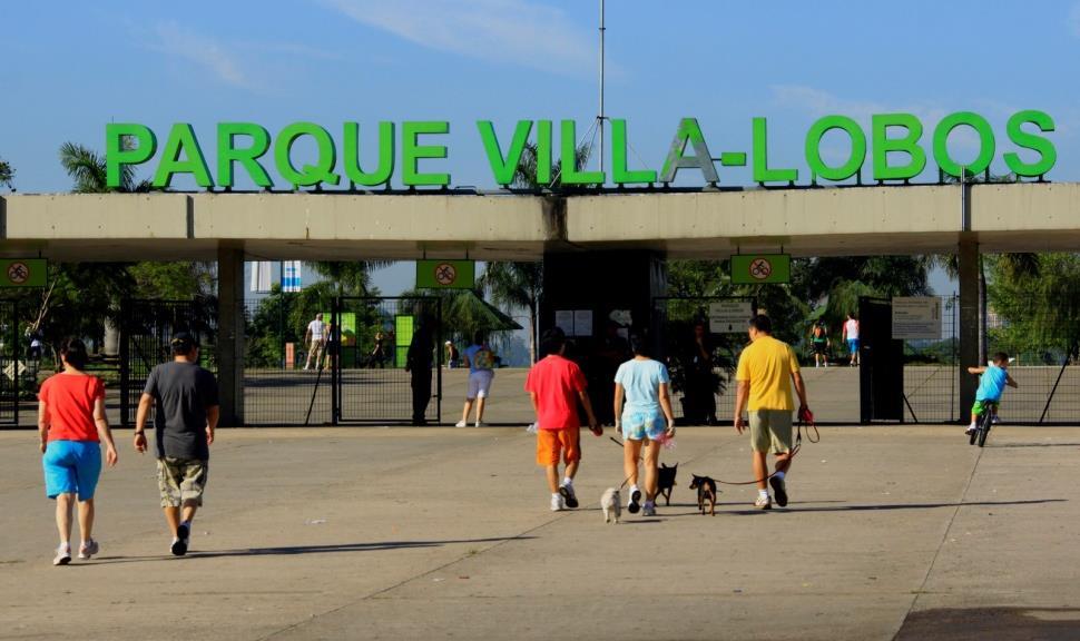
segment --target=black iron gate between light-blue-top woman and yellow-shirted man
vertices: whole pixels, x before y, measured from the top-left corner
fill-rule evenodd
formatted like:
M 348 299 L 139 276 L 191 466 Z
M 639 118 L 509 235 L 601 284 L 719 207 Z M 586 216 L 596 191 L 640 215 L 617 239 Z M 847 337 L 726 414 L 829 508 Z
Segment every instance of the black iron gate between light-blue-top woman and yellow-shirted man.
M 671 411 L 681 424 L 727 421 L 735 412 L 733 385 L 746 328 L 757 312 L 749 296 L 660 296 L 652 299 L 657 358 L 671 375 Z M 705 358 L 696 326 L 704 326 Z

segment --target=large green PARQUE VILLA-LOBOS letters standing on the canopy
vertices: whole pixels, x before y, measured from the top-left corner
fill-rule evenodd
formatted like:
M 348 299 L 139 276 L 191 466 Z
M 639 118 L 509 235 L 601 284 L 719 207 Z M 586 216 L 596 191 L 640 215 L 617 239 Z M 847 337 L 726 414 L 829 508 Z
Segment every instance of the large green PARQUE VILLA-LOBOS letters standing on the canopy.
M 949 148 L 953 132 L 966 128 L 975 134 L 978 152 L 970 161 L 961 164 Z M 206 155 L 199 146 L 192 125 L 173 125 L 165 141 L 154 172 L 153 184 L 168 188 L 173 178 L 188 175 L 199 187 L 232 188 L 235 184 L 235 169 L 238 165 L 255 185 L 272 188 L 274 180 L 266 165 L 271 155 L 273 165 L 285 185 L 315 187 L 341 185 L 344 181 L 356 187 L 380 187 L 390 185 L 395 176 L 400 157 L 400 180 L 406 187 L 446 187 L 450 174 L 420 170 L 421 160 L 445 159 L 450 156 L 446 145 L 439 144 L 438 137 L 450 132 L 450 122 L 405 121 L 401 124 L 401 136 L 394 122 L 380 122 L 377 135 L 377 162 L 374 167 L 361 167 L 360 135 L 357 122 L 342 126 L 341 158 L 334 137 L 324 127 L 314 122 L 293 122 L 278 131 L 276 138 L 254 122 L 220 122 L 217 125 L 216 179 L 210 174 Z M 507 149 L 499 144 L 494 125 L 489 120 L 477 122 L 491 174 L 499 185 L 510 185 L 522 157 L 526 145 L 536 146 L 537 181 L 550 184 L 553 176 L 553 126 L 551 120 L 519 120 Z M 847 157 L 843 161 L 826 162 L 822 158 L 822 140 L 826 134 L 838 131 L 850 141 Z M 1053 119 L 1043 111 L 1024 110 L 1013 114 L 1005 122 L 1005 135 L 1018 150 L 1002 154 L 1002 160 L 1018 177 L 1042 177 L 1053 167 L 1057 151 L 1049 138 L 1041 134 L 1054 130 Z M 932 155 L 937 168 L 944 174 L 960 177 L 966 169 L 980 174 L 990 167 L 998 154 L 998 144 L 990 122 L 978 114 L 958 111 L 941 119 L 930 136 L 929 149 L 923 144 L 923 125 L 911 114 L 882 114 L 871 117 L 870 136 L 854 119 L 846 116 L 825 116 L 814 122 L 806 132 L 805 161 L 809 169 L 811 181 L 848 180 L 861 175 L 867 156 L 873 166 L 874 180 L 911 180 L 926 169 L 927 156 Z M 769 166 L 768 124 L 765 118 L 752 121 L 752 144 L 749 154 L 745 151 L 724 151 L 714 157 L 695 118 L 684 118 L 676 130 L 670 150 L 664 165 L 656 169 L 628 166 L 627 122 L 611 120 L 611 172 L 581 170 L 575 167 L 577 126 L 573 120 L 560 122 L 559 155 L 562 159 L 558 178 L 563 185 L 650 185 L 675 181 L 680 169 L 696 169 L 706 183 L 719 183 L 716 162 L 721 167 L 750 166 L 753 180 L 759 184 L 794 184 L 799 178 L 797 168 Z M 297 168 L 293 164 L 293 146 L 297 140 L 310 138 L 317 148 L 315 164 Z M 870 141 L 870 144 L 867 142 Z M 106 158 L 108 186 L 119 187 L 122 169 L 148 162 L 158 151 L 157 137 L 145 125 L 111 124 L 106 126 Z M 400 154 L 400 156 L 399 156 Z M 747 158 L 749 156 L 749 159 Z M 569 161 L 567 161 L 570 159 Z M 338 162 L 340 160 L 340 162 Z

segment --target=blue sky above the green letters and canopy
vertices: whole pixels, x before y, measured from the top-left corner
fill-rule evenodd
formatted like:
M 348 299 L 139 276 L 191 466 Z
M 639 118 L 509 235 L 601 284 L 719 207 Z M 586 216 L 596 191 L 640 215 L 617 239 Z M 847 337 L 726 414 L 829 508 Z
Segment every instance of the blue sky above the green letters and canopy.
M 104 149 L 109 121 L 163 140 L 192 122 L 212 156 L 223 120 L 272 132 L 312 120 L 340 137 L 345 120 L 444 119 L 451 157 L 431 168 L 492 188 L 474 121 L 494 120 L 503 140 L 518 119 L 587 128 L 597 20 L 588 0 L 10 2 L 0 158 L 20 191 L 63 191 L 57 149 Z M 1080 180 L 1078 1 L 612 0 L 607 22 L 607 111 L 629 120 L 634 164 L 658 168 L 684 116 L 714 154 L 748 150 L 750 118 L 766 116 L 772 161 L 804 167 L 803 137 L 825 114 L 865 126 L 911 111 L 929 129 L 972 110 L 999 132 L 1004 172 L 1004 122 L 1034 108 L 1057 122 L 1050 178 Z M 961 136 L 958 156 L 973 156 L 964 147 Z M 748 169 L 720 175 L 749 181 Z

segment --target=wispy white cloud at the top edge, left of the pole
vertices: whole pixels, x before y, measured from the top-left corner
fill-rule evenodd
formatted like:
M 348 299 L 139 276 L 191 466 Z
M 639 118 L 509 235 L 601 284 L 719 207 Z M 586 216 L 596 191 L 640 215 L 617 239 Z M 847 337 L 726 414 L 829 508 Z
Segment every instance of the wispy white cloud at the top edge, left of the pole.
M 561 75 L 591 73 L 587 31 L 528 0 L 322 0 L 348 18 L 422 47 Z

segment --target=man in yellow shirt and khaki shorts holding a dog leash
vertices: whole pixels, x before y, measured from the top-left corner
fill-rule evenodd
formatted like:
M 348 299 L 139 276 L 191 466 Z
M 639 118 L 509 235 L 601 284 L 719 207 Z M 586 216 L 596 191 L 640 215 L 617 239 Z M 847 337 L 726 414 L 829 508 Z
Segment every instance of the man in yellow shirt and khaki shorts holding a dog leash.
M 772 447 L 776 455 L 776 474 L 768 479 L 776 495 L 776 504 L 787 505 L 787 486 L 784 476 L 792 466 L 792 384 L 798 394 L 799 414 L 806 407 L 806 386 L 798 373 L 798 361 L 792 346 L 773 338 L 773 323 L 768 316 L 750 318 L 750 344 L 739 356 L 735 379 L 738 392 L 735 396 L 735 430 L 739 434 L 746 428 L 743 410 L 749 412 L 750 450 L 754 455 L 754 476 L 757 479 L 757 501 L 754 506 L 770 510 L 765 484 L 768 477 L 766 455 Z

